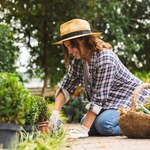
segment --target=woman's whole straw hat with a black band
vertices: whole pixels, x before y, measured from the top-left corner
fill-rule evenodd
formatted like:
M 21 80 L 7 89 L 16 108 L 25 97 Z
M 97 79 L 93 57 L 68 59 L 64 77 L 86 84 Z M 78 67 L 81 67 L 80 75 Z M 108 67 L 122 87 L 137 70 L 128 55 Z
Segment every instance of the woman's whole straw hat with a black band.
M 64 41 L 75 39 L 82 36 L 93 35 L 100 36 L 100 32 L 92 32 L 90 24 L 83 19 L 72 19 L 60 26 L 61 40 L 53 44 L 63 44 Z

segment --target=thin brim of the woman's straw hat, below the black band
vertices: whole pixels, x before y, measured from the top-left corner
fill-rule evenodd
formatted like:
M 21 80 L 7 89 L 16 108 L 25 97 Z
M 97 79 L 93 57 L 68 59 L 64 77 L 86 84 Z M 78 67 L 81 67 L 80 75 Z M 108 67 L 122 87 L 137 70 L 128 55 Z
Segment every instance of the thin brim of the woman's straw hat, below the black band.
M 68 41 L 68 40 L 75 39 L 75 38 L 82 37 L 82 36 L 93 35 L 93 36 L 97 37 L 97 36 L 100 36 L 101 34 L 102 34 L 101 32 L 95 32 L 95 33 L 76 35 L 76 36 L 72 36 L 72 37 L 60 40 L 58 42 L 55 42 L 55 43 L 53 43 L 53 45 L 63 44 L 64 41 Z

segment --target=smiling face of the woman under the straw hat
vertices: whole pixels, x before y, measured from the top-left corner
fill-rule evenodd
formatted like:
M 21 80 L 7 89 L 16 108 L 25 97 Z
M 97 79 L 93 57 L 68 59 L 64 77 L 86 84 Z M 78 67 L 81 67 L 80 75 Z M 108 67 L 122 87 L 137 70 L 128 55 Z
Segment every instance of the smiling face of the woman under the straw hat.
M 65 47 L 68 49 L 69 55 L 72 55 L 76 59 L 80 59 L 81 58 L 79 50 L 76 47 L 73 47 L 71 45 L 70 41 L 64 41 L 63 43 L 64 43 Z

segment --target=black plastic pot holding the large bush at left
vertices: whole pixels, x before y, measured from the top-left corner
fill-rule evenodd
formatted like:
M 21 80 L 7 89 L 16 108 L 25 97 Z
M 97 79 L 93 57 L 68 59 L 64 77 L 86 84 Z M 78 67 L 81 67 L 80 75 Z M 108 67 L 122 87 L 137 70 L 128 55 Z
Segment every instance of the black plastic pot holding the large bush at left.
M 19 141 L 21 128 L 12 123 L 0 123 L 0 145 L 2 148 L 13 148 Z

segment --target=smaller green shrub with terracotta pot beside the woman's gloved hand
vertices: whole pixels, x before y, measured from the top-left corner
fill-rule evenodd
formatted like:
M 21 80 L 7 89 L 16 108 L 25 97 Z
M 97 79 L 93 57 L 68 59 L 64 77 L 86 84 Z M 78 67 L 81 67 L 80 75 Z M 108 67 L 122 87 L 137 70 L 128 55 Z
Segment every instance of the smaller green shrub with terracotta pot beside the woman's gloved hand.
M 40 130 L 43 133 L 48 134 L 49 117 L 50 110 L 48 107 L 48 102 L 40 96 L 32 95 L 30 109 L 24 115 L 25 124 L 23 128 L 28 133 L 33 133 Z

